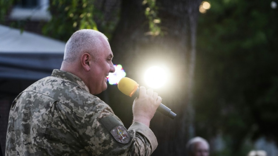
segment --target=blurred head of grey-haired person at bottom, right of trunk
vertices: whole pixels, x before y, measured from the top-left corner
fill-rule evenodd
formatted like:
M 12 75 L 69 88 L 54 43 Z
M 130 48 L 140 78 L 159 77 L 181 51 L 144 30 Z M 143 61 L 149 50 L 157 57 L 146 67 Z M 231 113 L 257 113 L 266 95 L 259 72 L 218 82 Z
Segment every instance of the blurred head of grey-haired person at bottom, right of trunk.
M 187 142 L 186 151 L 188 156 L 209 156 L 210 145 L 207 140 L 197 136 Z

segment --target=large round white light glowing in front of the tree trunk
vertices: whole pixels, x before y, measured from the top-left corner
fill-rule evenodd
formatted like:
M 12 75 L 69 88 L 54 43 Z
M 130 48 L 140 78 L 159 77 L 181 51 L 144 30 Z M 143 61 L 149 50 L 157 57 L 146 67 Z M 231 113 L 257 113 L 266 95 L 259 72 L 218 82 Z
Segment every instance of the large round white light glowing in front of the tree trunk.
M 164 68 L 152 66 L 145 73 L 145 81 L 151 88 L 160 88 L 167 81 L 167 73 Z

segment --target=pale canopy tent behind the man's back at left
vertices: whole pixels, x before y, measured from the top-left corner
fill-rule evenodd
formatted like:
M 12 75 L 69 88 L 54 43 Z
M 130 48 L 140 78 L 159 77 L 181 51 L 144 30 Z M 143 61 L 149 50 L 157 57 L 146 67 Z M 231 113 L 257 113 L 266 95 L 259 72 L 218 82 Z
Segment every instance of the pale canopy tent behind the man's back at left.
M 10 89 L 11 86 L 50 76 L 53 69 L 61 67 L 65 44 L 49 37 L 0 25 L 0 94 L 17 94 L 18 91 L 15 88 Z

